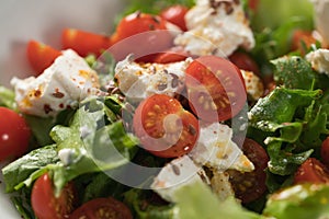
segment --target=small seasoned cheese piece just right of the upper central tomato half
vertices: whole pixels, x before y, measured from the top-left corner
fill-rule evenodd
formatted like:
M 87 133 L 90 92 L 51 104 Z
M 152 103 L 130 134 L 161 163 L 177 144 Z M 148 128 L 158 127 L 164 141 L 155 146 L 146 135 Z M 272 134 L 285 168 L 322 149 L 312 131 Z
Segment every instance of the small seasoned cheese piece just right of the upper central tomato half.
M 261 79 L 252 71 L 240 69 L 245 80 L 247 93 L 254 100 L 259 100 L 264 93 L 264 85 Z

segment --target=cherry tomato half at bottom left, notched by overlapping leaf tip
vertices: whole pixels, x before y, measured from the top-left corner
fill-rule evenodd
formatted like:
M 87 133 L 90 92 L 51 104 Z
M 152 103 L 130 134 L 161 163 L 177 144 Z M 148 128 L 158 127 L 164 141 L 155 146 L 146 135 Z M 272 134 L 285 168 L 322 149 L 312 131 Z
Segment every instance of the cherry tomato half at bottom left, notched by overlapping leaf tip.
M 33 185 L 31 194 L 32 209 L 38 219 L 68 218 L 75 209 L 76 198 L 72 183 L 68 183 L 59 197 L 56 197 L 53 181 L 48 173 L 45 173 Z

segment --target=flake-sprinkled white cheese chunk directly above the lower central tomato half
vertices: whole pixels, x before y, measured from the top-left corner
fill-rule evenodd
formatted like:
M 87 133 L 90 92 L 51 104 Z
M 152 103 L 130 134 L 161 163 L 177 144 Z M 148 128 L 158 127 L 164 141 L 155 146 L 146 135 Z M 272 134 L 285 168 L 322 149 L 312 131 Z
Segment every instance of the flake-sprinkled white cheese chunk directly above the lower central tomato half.
M 132 56 L 115 67 L 120 90 L 129 101 L 141 101 L 152 94 L 173 96 L 184 88 L 185 69 L 192 58 L 173 64 L 137 64 Z

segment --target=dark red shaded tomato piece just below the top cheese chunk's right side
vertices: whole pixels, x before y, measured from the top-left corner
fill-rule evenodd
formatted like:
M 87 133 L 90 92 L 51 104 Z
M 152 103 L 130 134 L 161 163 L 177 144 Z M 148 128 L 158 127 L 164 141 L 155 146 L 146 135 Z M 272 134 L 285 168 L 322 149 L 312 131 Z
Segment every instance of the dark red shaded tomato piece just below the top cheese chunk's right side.
M 252 71 L 253 73 L 260 76 L 260 70 L 257 62 L 246 53 L 235 51 L 228 57 L 228 59 L 234 62 L 239 69 Z

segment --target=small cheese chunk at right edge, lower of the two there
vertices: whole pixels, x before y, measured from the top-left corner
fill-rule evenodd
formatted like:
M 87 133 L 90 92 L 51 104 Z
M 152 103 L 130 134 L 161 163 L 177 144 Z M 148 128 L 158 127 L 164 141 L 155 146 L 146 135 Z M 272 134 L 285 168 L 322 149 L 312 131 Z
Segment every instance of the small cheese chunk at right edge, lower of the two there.
M 329 76 L 329 49 L 319 48 L 307 54 L 305 58 L 317 72 Z

